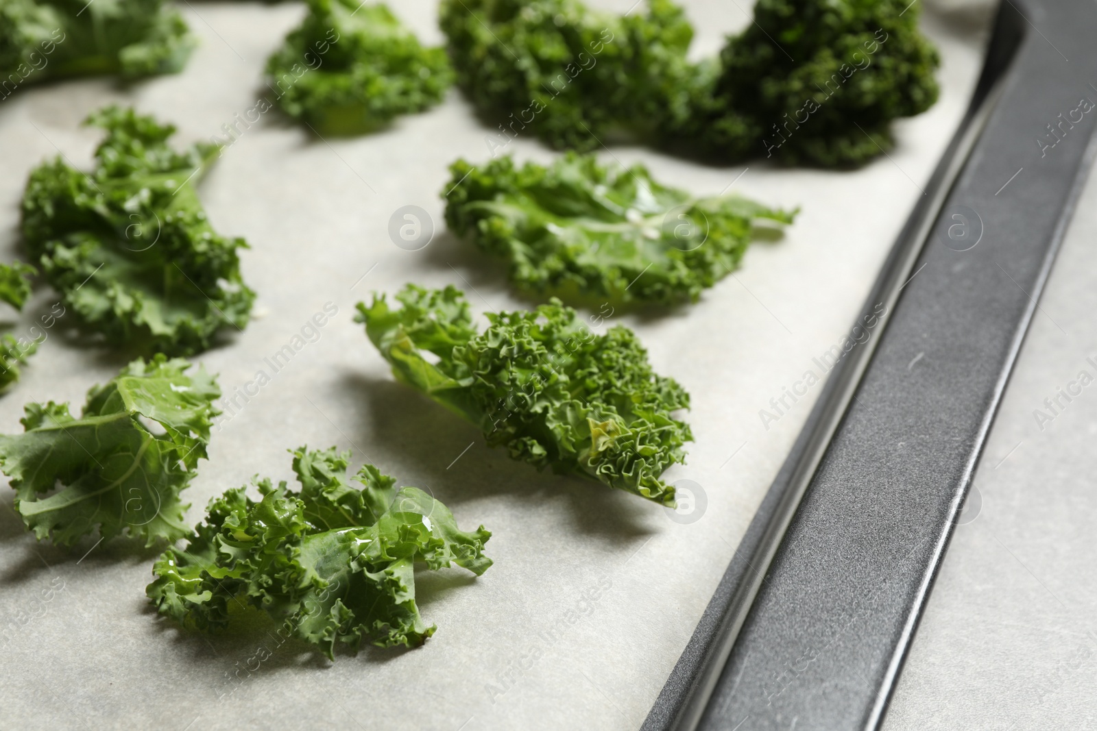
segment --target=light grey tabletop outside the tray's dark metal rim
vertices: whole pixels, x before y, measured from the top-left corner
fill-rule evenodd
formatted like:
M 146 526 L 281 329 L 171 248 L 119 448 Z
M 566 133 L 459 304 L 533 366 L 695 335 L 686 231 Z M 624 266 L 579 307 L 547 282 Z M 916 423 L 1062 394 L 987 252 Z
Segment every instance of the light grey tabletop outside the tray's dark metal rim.
M 887 731 L 1097 728 L 1095 238 L 1090 176 L 900 678 Z

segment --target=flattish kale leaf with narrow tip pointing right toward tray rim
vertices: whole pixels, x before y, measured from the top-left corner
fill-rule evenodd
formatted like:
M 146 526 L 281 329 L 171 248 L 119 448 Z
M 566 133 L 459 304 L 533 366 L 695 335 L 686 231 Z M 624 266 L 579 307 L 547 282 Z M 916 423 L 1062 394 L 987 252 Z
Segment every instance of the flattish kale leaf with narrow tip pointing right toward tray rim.
M 565 299 L 695 301 L 738 266 L 759 219 L 795 215 L 733 195 L 697 198 L 643 165 L 604 168 L 593 156 L 547 168 L 459 160 L 450 171 L 450 228 L 504 259 L 519 288 Z

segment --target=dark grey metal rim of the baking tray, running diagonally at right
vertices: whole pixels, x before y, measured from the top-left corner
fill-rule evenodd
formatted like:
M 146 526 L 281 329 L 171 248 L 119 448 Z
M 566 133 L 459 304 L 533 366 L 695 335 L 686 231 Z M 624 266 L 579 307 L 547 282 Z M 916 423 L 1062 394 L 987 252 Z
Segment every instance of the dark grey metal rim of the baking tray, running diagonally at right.
M 1003 0 L 971 110 L 644 729 L 874 729 L 1093 158 L 1097 5 Z

